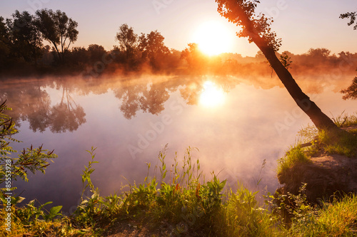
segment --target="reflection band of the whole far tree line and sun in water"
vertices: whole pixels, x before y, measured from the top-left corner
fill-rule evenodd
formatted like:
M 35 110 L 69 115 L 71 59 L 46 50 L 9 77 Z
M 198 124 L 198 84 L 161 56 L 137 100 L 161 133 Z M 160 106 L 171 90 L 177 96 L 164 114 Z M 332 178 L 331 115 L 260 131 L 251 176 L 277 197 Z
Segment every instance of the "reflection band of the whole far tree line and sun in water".
M 322 77 L 321 77 L 322 78 Z M 328 84 L 339 86 L 341 81 L 331 81 L 331 77 L 320 83 L 321 78 L 302 76 L 298 83 L 306 93 L 321 93 Z M 222 105 L 225 95 L 239 84 L 253 85 L 265 90 L 276 86 L 282 87 L 276 77 L 273 78 L 235 78 L 231 76 L 175 76 L 141 78 L 50 78 L 49 80 L 9 80 L 1 82 L 0 100 L 8 100 L 14 110 L 14 120 L 27 120 L 34 132 L 44 132 L 49 127 L 51 132 L 73 132 L 86 122 L 84 108 L 75 101 L 73 95 L 100 95 L 113 91 L 119 100 L 119 110 L 131 120 L 138 112 L 159 115 L 164 111 L 165 102 L 175 91 L 187 105 L 216 107 Z M 346 84 L 346 83 L 345 83 Z M 47 90 L 56 89 L 61 96 L 51 98 Z M 340 89 L 341 90 L 341 89 Z M 54 100 L 54 101 L 51 101 Z

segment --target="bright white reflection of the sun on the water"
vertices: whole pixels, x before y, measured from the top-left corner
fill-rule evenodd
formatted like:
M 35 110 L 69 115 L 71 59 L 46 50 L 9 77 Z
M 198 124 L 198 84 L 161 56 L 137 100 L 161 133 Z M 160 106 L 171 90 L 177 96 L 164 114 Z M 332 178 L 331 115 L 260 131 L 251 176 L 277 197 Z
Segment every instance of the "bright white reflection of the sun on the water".
M 200 96 L 200 104 L 204 107 L 216 107 L 222 105 L 225 100 L 224 92 L 211 81 L 203 84 L 203 91 Z

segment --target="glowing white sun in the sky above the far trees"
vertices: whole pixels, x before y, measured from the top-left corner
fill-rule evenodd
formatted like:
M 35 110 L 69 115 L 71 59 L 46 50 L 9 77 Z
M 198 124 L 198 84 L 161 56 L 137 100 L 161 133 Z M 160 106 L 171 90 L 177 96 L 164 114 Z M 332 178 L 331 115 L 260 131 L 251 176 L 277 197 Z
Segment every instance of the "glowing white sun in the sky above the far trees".
M 196 29 L 193 41 L 198 43 L 198 48 L 208 56 L 231 51 L 234 32 L 219 21 L 206 21 Z

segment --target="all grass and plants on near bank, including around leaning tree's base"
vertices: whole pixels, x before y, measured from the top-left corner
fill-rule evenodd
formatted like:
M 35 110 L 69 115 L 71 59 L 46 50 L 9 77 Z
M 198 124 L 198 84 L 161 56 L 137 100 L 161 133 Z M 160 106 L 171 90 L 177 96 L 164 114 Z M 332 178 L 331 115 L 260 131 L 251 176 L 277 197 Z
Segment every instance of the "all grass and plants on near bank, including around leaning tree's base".
M 3 123 L 5 133 L 11 134 L 11 120 Z M 347 135 L 318 133 L 310 144 L 302 144 L 287 152 L 286 157 L 304 157 L 311 164 L 310 156 L 336 154 L 356 158 L 356 117 L 336 120 L 340 127 L 348 127 Z M 310 130 L 305 130 L 307 132 Z M 15 131 L 12 131 L 15 132 Z M 313 138 L 316 133 L 308 133 Z M 305 143 L 306 144 L 306 143 Z M 5 145 L 7 146 L 7 145 Z M 96 149 L 89 151 L 91 159 L 81 175 L 83 191 L 81 204 L 71 216 L 61 214 L 61 206 L 30 201 L 23 207 L 21 198 L 1 193 L 3 205 L 0 218 L 6 224 L 0 228 L 4 236 L 353 236 L 356 234 L 356 194 L 334 196 L 318 204 L 308 196 L 309 184 L 298 185 L 295 193 L 269 194 L 251 191 L 237 182 L 233 191 L 220 180 L 219 174 L 205 177 L 201 163 L 188 147 L 180 160 L 166 162 L 166 148 L 159 152 L 157 165 L 148 165 L 147 175 L 140 183 L 122 186 L 119 194 L 101 196 L 91 181 L 96 167 Z M 292 151 L 295 152 L 292 152 Z M 42 159 L 54 157 L 52 152 L 39 149 L 24 151 Z M 22 152 L 21 152 L 22 153 Z M 339 154 L 342 155 L 342 154 Z M 285 160 L 286 157 L 281 159 Z M 333 156 L 332 156 L 333 157 Z M 25 167 L 31 162 L 19 161 Z M 40 157 L 41 158 L 41 157 Z M 28 160 L 29 158 L 26 158 Z M 41 159 L 40 159 L 41 160 Z M 288 159 L 290 166 L 283 170 L 291 173 L 300 159 Z M 21 163 L 22 162 L 22 163 Z M 36 163 L 36 162 L 35 162 Z M 48 163 L 41 165 L 46 168 Z M 264 169 L 265 163 L 260 169 Z M 20 167 L 20 166 L 19 166 Z M 1 171 L 4 171 L 1 167 Z M 259 169 L 258 167 L 256 169 Z M 279 168 L 278 168 L 279 169 Z M 356 169 L 354 169 L 356 170 Z M 41 170 L 42 171 L 42 170 Z M 351 169 L 353 172 L 353 169 Z M 278 175 L 282 175 L 278 172 Z M 257 183 L 261 177 L 257 177 Z M 2 183 L 2 179 L 1 179 Z M 311 185 L 311 184 L 310 184 Z M 258 186 L 258 185 L 257 185 Z M 339 191 L 339 190 L 337 190 Z M 265 204 L 257 201 L 258 192 L 264 194 Z M 10 201 L 9 201 L 10 200 Z M 9 215 L 10 214 L 10 215 Z M 10 216 L 10 217 L 9 217 Z M 9 223 L 7 219 L 9 219 Z

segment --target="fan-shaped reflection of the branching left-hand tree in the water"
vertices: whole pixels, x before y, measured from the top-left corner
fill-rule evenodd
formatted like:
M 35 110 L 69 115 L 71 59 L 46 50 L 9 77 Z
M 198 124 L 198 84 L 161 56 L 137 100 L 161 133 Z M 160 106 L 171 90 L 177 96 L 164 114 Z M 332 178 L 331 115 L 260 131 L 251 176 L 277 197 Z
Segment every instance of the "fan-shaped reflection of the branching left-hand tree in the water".
M 86 122 L 83 107 L 77 105 L 69 94 L 68 88 L 63 88 L 61 102 L 51 107 L 49 127 L 51 132 L 73 132 Z

